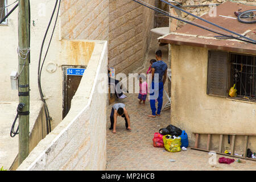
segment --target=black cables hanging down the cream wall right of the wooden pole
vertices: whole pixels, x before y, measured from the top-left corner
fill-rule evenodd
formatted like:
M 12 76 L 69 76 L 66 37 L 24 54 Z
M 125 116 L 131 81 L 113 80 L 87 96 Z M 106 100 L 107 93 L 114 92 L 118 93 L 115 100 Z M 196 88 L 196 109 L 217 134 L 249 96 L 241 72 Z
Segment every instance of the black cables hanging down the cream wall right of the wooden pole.
M 51 132 L 51 117 L 49 116 L 48 106 L 47 106 L 47 104 L 46 104 L 46 100 L 44 99 L 44 95 L 43 95 L 43 92 L 42 92 L 41 73 L 42 73 L 42 68 L 43 68 L 44 61 L 45 61 L 46 56 L 47 56 L 47 53 L 48 53 L 49 46 L 50 46 L 50 44 L 51 44 L 53 32 L 54 32 L 54 30 L 55 30 L 55 26 L 56 26 L 56 22 L 57 22 L 57 17 L 58 17 L 58 15 L 59 15 L 59 10 L 60 10 L 60 2 L 61 2 L 61 0 L 59 1 L 59 7 L 58 7 L 58 10 L 57 10 L 56 20 L 55 20 L 55 24 L 54 24 L 54 27 L 53 27 L 51 39 L 49 40 L 48 48 L 47 48 L 46 54 L 45 54 L 45 56 L 44 56 L 44 60 L 43 60 L 43 62 L 42 62 L 42 65 L 41 65 L 41 58 L 42 58 L 42 52 L 43 52 L 44 42 L 45 42 L 45 40 L 46 40 L 46 36 L 47 36 L 48 30 L 49 30 L 49 27 L 51 26 L 51 22 L 52 22 L 52 19 L 53 19 L 53 15 L 55 14 L 55 11 L 56 11 L 56 7 L 57 7 L 58 0 L 56 0 L 56 2 L 55 2 L 55 6 L 54 6 L 54 8 L 53 8 L 52 15 L 51 15 L 51 18 L 50 18 L 49 23 L 48 23 L 46 33 L 44 34 L 42 46 L 41 46 L 41 49 L 40 49 L 39 63 L 38 63 L 38 88 L 39 88 L 39 93 L 40 93 L 41 100 L 42 100 L 43 103 L 44 103 L 44 113 L 46 114 L 47 134 L 48 134 L 49 132 Z

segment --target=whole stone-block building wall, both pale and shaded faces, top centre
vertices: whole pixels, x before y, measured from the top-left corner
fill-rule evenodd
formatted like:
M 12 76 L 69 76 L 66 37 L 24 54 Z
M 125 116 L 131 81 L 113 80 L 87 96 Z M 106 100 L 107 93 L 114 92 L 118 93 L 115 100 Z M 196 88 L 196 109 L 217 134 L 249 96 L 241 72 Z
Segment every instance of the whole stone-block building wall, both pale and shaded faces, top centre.
M 146 0 L 154 5 L 154 0 Z M 61 38 L 109 40 L 115 73 L 142 67 L 154 11 L 131 0 L 67 1 L 61 5 Z

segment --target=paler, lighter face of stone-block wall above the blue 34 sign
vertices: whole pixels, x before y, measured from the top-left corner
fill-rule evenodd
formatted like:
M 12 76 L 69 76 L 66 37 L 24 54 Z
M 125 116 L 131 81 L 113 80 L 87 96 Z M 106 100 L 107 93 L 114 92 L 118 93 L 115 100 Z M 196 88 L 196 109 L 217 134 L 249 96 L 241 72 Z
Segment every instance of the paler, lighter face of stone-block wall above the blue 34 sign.
M 61 38 L 108 40 L 109 1 L 61 1 Z

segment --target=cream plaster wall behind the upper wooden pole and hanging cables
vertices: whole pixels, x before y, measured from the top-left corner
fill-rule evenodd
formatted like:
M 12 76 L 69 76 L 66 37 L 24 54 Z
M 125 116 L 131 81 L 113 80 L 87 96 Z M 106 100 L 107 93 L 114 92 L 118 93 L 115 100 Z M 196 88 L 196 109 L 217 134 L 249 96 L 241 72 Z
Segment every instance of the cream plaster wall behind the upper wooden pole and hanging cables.
M 10 5 L 15 1 L 8 1 Z M 43 6 L 42 6 L 43 5 Z M 45 5 L 45 6 L 44 6 Z M 32 0 L 31 6 L 31 63 L 30 63 L 30 100 L 40 101 L 40 94 L 38 89 L 38 62 L 41 44 L 43 42 L 43 36 L 46 31 L 48 21 L 50 19 L 55 1 L 43 1 Z M 9 11 L 14 5 L 9 7 Z M 45 11 L 45 14 L 42 13 Z M 18 90 L 11 90 L 10 73 L 12 71 L 18 71 L 18 8 L 9 16 L 8 26 L 0 26 L 0 84 L 5 89 L 0 94 L 0 101 L 18 101 Z M 54 18 L 53 18 L 54 19 Z M 33 23 L 34 22 L 34 25 Z M 51 27 L 52 28 L 52 27 Z M 49 37 L 51 35 L 51 29 L 49 30 L 42 55 L 46 52 L 48 46 Z M 56 24 L 55 34 L 53 34 L 51 47 L 47 54 L 46 62 L 44 63 L 42 72 L 42 89 L 44 96 L 47 98 L 47 104 L 49 106 L 50 115 L 53 118 L 53 123 L 59 123 L 61 120 L 61 68 L 57 67 L 53 73 L 46 71 L 47 64 L 53 62 L 60 64 L 60 41 L 59 41 L 59 23 Z M 5 35 L 5 36 L 2 36 Z M 43 60 L 43 56 L 42 56 Z M 42 63 L 42 61 L 41 61 Z M 60 94 L 59 94 L 60 93 Z M 60 98 L 60 99 L 59 99 Z M 52 106 L 54 103 L 55 106 Z M 56 105 L 60 103 L 60 106 Z M 60 113 L 60 114 L 59 114 Z M 54 125 L 54 124 L 53 124 Z

